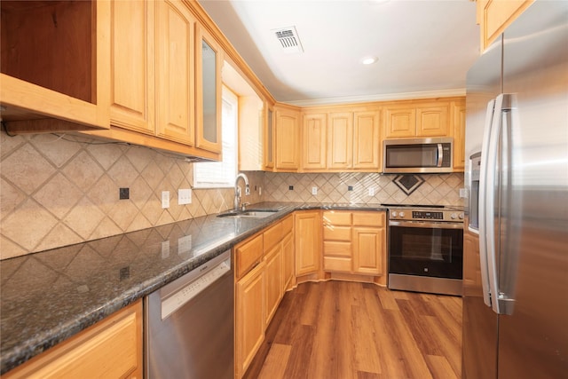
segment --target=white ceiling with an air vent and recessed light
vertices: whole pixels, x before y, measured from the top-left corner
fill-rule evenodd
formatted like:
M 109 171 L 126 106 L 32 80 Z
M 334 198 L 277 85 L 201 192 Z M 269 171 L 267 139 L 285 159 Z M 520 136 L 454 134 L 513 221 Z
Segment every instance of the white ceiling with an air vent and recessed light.
M 274 99 L 296 105 L 465 94 L 479 55 L 469 0 L 199 0 Z M 303 53 L 272 29 L 296 27 Z M 360 60 L 375 56 L 369 66 Z

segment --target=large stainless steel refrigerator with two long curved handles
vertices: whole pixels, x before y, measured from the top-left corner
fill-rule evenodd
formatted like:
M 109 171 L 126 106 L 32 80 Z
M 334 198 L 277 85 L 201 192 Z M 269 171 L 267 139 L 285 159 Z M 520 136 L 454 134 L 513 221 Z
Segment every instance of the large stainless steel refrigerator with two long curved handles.
M 504 31 L 466 107 L 462 377 L 568 378 L 568 1 Z

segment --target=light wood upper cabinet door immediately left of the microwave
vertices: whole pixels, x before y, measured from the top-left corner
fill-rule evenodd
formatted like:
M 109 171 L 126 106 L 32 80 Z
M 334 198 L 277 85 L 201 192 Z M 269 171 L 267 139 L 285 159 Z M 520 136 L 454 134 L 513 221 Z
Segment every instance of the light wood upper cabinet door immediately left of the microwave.
M 379 112 L 353 116 L 353 169 L 379 170 Z

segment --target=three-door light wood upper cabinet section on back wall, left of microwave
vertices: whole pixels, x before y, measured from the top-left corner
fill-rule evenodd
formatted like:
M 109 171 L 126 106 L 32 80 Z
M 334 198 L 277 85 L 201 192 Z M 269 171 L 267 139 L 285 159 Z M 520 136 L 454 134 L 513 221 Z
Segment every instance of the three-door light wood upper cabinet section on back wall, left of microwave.
M 378 110 L 320 108 L 303 120 L 301 170 L 379 170 Z

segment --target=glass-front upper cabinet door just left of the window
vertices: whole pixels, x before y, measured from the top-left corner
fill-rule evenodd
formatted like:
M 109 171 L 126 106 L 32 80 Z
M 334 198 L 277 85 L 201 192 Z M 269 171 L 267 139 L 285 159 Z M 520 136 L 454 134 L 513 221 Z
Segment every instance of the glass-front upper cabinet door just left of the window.
M 195 40 L 196 146 L 221 153 L 221 102 L 223 51 L 215 39 L 197 27 Z

